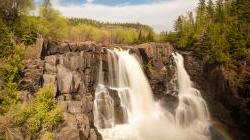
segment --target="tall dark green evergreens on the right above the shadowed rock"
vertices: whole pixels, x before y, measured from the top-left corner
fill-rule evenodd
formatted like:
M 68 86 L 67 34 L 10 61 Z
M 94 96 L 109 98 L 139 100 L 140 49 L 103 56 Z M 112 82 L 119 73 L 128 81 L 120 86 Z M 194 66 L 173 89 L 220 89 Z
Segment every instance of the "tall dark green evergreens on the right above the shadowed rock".
M 210 63 L 242 60 L 249 54 L 249 14 L 247 0 L 217 0 L 216 4 L 200 0 L 195 20 L 191 12 L 179 16 L 175 32 L 167 34 L 165 40 L 179 49 L 200 52 Z

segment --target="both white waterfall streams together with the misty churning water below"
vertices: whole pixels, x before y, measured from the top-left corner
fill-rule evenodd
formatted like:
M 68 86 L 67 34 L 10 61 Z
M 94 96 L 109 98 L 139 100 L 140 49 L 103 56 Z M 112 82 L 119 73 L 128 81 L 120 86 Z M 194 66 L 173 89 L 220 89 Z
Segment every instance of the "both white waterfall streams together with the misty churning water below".
M 135 54 L 108 50 L 107 70 L 100 60 L 94 123 L 104 140 L 209 140 L 209 112 L 192 87 L 183 57 L 172 54 L 177 75 L 178 106 L 170 112 L 154 100 Z

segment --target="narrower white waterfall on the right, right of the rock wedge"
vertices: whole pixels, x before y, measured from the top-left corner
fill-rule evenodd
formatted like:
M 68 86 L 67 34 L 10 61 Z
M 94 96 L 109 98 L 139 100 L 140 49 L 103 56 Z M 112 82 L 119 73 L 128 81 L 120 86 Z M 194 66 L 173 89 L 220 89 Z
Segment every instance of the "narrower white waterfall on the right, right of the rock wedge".
M 192 81 L 184 67 L 183 57 L 179 53 L 173 53 L 177 67 L 178 98 L 176 108 L 176 122 L 179 126 L 193 126 L 193 129 L 208 133 L 209 111 L 200 91 L 192 86 Z

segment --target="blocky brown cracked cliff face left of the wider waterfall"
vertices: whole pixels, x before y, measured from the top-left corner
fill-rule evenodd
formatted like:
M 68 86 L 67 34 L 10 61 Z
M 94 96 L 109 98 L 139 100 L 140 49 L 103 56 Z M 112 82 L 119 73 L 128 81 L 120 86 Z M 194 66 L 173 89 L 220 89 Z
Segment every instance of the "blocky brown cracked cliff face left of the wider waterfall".
M 64 135 L 68 138 L 63 139 L 98 138 L 92 113 L 98 68 L 95 53 L 98 52 L 66 52 L 45 56 L 43 84 L 52 83 L 57 87 L 55 97 L 64 108 L 64 125 L 58 129 L 57 139 L 62 139 Z

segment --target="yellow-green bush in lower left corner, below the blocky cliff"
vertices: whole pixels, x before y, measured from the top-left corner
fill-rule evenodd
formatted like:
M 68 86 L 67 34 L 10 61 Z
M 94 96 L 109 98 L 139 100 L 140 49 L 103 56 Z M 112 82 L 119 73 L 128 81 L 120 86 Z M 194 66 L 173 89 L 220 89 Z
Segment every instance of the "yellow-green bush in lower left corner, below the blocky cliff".
M 41 130 L 51 136 L 51 131 L 61 121 L 61 109 L 54 99 L 53 88 L 51 85 L 41 88 L 33 100 L 12 106 L 5 114 L 11 117 L 12 127 L 25 130 L 22 132 L 25 138 L 37 139 Z

